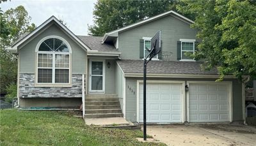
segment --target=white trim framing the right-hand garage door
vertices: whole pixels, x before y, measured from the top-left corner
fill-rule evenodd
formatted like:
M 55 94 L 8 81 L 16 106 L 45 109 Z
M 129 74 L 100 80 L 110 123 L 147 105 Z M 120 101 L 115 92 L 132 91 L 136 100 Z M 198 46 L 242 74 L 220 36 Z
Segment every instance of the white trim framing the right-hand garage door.
M 228 113 L 229 113 L 229 122 L 233 120 L 233 94 L 232 94 L 232 82 L 223 81 L 223 82 L 215 82 L 215 81 L 187 81 L 187 85 L 189 84 L 225 84 L 228 85 Z M 189 91 L 187 94 L 187 117 L 189 122 Z

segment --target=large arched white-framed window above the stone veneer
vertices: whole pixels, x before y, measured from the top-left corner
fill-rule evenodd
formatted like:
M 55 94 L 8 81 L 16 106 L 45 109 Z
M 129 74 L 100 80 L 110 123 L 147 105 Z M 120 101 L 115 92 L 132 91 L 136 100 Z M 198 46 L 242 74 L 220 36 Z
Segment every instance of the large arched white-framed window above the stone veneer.
M 70 84 L 70 45 L 65 42 L 60 37 L 48 37 L 38 43 L 38 84 Z

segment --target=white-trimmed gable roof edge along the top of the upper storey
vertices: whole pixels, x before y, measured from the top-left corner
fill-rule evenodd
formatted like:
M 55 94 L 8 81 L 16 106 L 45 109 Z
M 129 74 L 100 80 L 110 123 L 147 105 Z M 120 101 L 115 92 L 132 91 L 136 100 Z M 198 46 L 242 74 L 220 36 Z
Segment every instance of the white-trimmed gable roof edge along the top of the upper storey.
M 122 31 L 126 31 L 126 30 L 128 30 L 128 29 L 133 28 L 133 27 L 141 26 L 141 25 L 143 25 L 143 24 L 146 24 L 146 23 L 151 22 L 151 21 L 153 21 L 153 20 L 156 20 L 156 19 L 158 19 L 158 18 L 165 17 L 165 16 L 170 15 L 170 14 L 173 14 L 173 15 L 175 15 L 175 16 L 178 17 L 178 18 L 182 18 L 183 20 L 185 20 L 185 21 L 188 22 L 189 24 L 194 24 L 194 23 L 195 23 L 193 20 L 191 20 L 191 19 L 189 19 L 189 18 L 187 18 L 187 17 L 184 17 L 183 15 L 180 15 L 179 13 L 177 13 L 177 12 L 175 12 L 175 11 L 166 11 L 165 13 L 161 13 L 161 14 L 156 15 L 156 16 L 154 16 L 154 17 L 150 17 L 150 18 L 147 18 L 147 19 L 145 19 L 145 20 L 141 20 L 140 22 L 136 22 L 136 23 L 131 24 L 131 25 L 129 25 L 129 26 L 125 26 L 125 27 L 122 27 L 122 28 L 120 28 L 120 29 L 116 29 L 116 30 L 114 30 L 114 31 L 110 31 L 110 32 L 104 34 L 104 36 L 103 36 L 103 38 L 102 38 L 102 42 L 104 43 L 104 42 L 106 41 L 106 39 L 107 39 L 109 36 L 111 36 L 111 37 L 117 36 L 116 33 L 119 33 L 119 32 L 122 32 Z

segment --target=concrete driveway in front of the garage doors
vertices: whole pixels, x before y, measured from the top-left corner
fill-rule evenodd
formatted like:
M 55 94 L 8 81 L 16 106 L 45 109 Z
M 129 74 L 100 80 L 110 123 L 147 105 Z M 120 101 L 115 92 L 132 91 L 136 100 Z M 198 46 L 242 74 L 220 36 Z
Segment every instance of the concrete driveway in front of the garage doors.
M 222 127 L 221 127 L 222 126 Z M 255 145 L 252 126 L 147 126 L 147 134 L 167 145 Z

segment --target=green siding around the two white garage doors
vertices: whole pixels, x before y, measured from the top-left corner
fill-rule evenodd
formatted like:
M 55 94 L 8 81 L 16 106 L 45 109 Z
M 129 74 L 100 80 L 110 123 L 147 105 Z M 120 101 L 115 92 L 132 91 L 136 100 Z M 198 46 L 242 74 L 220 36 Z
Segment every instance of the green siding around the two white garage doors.
M 148 80 L 184 80 L 184 78 L 147 78 Z M 137 92 L 137 80 L 143 80 L 143 78 L 125 78 L 126 86 L 132 88 Z M 186 78 L 184 81 L 214 81 L 212 78 Z M 233 91 L 233 120 L 243 120 L 243 105 L 242 105 L 242 84 L 237 79 L 227 79 L 224 81 L 232 81 Z M 186 95 L 186 94 L 185 94 Z M 137 108 L 137 93 L 133 94 L 131 91 L 126 90 L 126 119 L 136 122 L 136 108 Z M 185 105 L 187 108 L 187 104 Z

